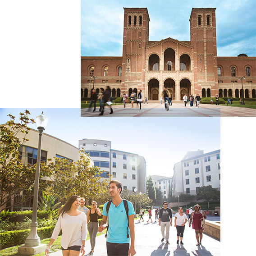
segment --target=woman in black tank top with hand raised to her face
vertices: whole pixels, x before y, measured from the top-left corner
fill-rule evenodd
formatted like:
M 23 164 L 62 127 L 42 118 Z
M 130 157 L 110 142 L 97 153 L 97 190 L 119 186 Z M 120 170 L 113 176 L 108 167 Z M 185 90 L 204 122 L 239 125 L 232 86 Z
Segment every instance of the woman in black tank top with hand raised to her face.
M 95 247 L 95 240 L 96 235 L 98 233 L 98 216 L 101 216 L 101 211 L 97 207 L 96 201 L 91 202 L 91 210 L 87 212 L 87 224 L 88 224 L 88 231 L 90 235 L 90 242 L 91 242 L 91 251 L 89 255 L 93 255 L 94 247 Z

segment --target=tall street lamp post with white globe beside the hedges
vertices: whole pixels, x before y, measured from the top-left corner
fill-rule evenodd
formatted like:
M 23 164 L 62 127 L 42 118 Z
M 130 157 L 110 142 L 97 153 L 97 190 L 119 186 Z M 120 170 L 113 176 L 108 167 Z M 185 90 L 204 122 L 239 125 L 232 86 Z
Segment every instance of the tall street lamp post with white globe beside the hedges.
M 39 250 L 44 251 L 46 249 L 46 245 L 40 244 L 40 238 L 37 235 L 37 203 L 38 203 L 38 189 L 39 189 L 39 177 L 40 177 L 41 142 L 42 142 L 42 133 L 45 130 L 45 127 L 48 122 L 48 119 L 43 113 L 44 112 L 42 112 L 42 114 L 38 115 L 36 118 L 37 129 L 39 131 L 39 139 L 38 139 L 38 150 L 37 150 L 37 168 L 36 168 L 36 176 L 35 176 L 32 222 L 30 225 L 30 233 L 26 239 L 25 246 L 18 247 L 18 253 L 19 254 L 25 253 L 23 255 L 34 255 L 39 253 L 38 252 Z M 26 249 L 27 247 L 29 249 L 31 248 L 31 250 Z M 32 254 L 27 254 L 26 253 L 27 251 L 32 251 Z

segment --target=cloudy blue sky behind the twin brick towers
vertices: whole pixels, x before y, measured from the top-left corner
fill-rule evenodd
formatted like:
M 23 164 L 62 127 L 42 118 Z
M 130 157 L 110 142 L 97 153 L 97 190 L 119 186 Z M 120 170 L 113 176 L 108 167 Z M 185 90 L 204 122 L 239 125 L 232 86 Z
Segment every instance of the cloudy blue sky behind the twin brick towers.
M 122 56 L 123 7 L 143 7 L 150 41 L 190 41 L 192 8 L 216 8 L 217 55 L 256 56 L 255 6 L 256 0 L 81 0 L 81 55 Z

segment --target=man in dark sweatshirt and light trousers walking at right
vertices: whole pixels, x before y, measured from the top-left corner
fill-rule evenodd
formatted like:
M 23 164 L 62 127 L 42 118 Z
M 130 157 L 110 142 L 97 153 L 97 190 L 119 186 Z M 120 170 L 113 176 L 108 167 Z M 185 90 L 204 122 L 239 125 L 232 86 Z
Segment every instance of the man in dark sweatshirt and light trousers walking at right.
M 161 226 L 162 240 L 161 242 L 169 244 L 169 230 L 172 225 L 172 210 L 167 207 L 168 203 L 166 201 L 163 202 L 163 208 L 159 211 L 159 226 Z M 166 231 L 166 234 L 165 234 Z

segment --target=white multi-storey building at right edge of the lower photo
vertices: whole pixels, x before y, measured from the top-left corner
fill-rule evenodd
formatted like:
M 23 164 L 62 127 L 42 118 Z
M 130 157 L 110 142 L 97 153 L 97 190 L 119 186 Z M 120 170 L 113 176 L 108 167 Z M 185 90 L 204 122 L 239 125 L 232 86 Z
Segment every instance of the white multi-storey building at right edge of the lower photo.
M 180 194 L 196 195 L 198 187 L 210 185 L 220 189 L 220 150 L 204 154 L 189 151 L 174 165 L 174 197 Z

